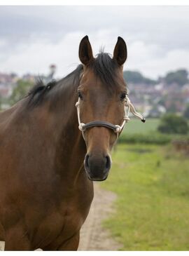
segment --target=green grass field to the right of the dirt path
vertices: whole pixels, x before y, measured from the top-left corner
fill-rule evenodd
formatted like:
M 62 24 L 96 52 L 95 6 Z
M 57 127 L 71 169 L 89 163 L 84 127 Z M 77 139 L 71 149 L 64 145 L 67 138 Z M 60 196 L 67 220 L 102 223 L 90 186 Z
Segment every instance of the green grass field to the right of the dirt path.
M 171 145 L 118 145 L 102 187 L 118 194 L 104 226 L 122 250 L 189 250 L 188 166 Z

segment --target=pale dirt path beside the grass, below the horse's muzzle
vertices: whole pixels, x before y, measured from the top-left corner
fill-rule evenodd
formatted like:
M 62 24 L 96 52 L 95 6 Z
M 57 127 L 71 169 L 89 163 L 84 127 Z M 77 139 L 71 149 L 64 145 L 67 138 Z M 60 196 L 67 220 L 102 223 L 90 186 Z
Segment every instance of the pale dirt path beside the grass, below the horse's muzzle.
M 109 217 L 113 211 L 112 203 L 116 194 L 101 189 L 94 184 L 94 200 L 87 220 L 80 231 L 80 244 L 78 250 L 118 250 L 121 245 L 111 238 L 109 231 L 102 227 L 102 221 Z M 0 242 L 0 250 L 4 243 Z

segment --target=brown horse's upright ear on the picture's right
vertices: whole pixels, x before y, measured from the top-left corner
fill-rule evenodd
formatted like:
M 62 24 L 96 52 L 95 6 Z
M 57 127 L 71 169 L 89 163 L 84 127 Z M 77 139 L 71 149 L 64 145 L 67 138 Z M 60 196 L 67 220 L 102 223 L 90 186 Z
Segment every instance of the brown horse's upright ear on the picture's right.
M 118 36 L 118 41 L 113 50 L 113 60 L 118 62 L 118 65 L 123 65 L 125 60 L 127 60 L 127 46 L 123 38 Z

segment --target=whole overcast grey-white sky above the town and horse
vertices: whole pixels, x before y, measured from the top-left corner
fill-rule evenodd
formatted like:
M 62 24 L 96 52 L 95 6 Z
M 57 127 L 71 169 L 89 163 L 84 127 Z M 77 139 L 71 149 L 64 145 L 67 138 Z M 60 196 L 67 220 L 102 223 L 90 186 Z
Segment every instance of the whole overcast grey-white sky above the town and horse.
M 117 37 L 127 43 L 125 70 L 151 78 L 189 70 L 189 6 L 0 6 L 0 72 L 62 77 L 79 64 L 86 34 L 94 55 L 113 53 Z

